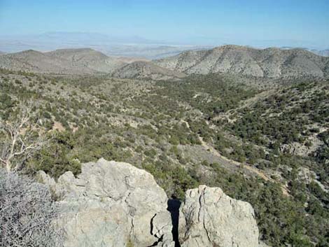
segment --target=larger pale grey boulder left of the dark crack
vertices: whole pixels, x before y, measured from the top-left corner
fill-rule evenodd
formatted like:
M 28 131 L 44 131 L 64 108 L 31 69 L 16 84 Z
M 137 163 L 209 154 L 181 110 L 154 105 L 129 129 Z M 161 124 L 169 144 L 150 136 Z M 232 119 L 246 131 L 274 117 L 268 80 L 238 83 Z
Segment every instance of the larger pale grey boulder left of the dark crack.
M 174 247 L 167 195 L 146 171 L 101 159 L 78 178 L 39 175 L 59 199 L 65 247 Z

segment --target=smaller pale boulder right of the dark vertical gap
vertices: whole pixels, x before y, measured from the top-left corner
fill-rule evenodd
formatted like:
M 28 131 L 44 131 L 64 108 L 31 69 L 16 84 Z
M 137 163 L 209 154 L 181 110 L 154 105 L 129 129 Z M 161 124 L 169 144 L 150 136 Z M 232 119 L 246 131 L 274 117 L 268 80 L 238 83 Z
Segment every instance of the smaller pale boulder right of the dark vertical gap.
M 179 241 L 181 247 L 258 247 L 253 208 L 220 188 L 188 190 L 179 212 Z

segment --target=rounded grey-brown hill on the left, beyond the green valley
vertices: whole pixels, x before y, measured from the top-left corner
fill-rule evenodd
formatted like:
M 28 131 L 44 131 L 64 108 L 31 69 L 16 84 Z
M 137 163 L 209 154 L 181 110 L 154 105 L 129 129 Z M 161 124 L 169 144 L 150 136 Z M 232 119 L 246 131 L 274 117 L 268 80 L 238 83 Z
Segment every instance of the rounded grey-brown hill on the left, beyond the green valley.
M 2 55 L 0 68 L 14 71 L 56 74 L 111 73 L 127 64 L 125 59 L 108 57 L 89 48 L 62 49 L 52 52 L 26 50 Z

